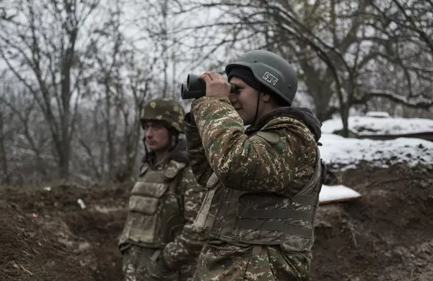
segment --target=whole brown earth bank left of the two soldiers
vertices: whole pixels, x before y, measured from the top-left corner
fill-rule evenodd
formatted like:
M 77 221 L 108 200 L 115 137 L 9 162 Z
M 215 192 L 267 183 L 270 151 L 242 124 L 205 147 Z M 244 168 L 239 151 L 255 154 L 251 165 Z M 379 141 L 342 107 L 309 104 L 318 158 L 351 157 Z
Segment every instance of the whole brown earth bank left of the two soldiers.
M 0 204 L 0 280 L 121 280 L 116 240 L 129 188 L 6 188 L 1 197 L 8 203 Z

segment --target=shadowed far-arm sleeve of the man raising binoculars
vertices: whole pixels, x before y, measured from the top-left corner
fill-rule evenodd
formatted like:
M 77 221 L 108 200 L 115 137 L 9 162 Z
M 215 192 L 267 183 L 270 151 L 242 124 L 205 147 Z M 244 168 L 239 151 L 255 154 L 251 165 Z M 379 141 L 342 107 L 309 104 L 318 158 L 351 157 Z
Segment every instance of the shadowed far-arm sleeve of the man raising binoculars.
M 201 137 L 199 129 L 196 126 L 194 115 L 192 112 L 185 115 L 185 136 L 187 137 L 187 153 L 189 166 L 191 166 L 192 172 L 196 178 L 196 181 L 206 186 L 206 183 L 211 177 L 213 170 L 211 165 L 208 163 L 206 154 L 201 143 Z

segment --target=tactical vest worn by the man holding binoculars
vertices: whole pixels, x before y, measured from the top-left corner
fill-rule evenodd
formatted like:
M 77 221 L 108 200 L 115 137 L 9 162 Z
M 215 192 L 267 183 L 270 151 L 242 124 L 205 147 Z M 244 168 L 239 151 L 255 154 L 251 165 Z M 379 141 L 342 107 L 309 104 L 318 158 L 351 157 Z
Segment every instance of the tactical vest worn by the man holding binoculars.
M 194 229 L 211 240 L 284 244 L 284 248 L 291 251 L 310 251 L 325 171 L 317 150 L 313 176 L 291 198 L 225 188 L 214 173 L 206 185 L 208 193 Z

